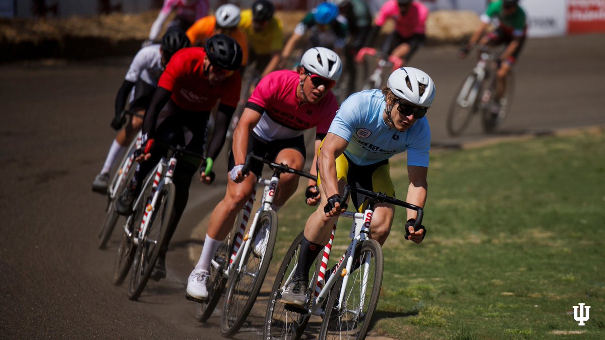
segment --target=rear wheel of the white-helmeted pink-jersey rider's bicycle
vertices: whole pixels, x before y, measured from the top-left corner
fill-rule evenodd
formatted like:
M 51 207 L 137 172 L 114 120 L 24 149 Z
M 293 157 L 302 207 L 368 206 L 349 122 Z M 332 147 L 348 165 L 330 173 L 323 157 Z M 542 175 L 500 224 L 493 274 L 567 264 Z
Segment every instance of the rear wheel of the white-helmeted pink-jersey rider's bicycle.
M 218 301 L 221 299 L 225 283 L 227 283 L 227 278 L 225 278 L 223 274 L 227 269 L 227 266 L 229 266 L 229 258 L 231 258 L 231 253 L 233 252 L 235 244 L 235 234 L 237 234 L 237 230 L 240 227 L 242 216 L 243 211 L 240 211 L 235 218 L 231 233 L 224 239 L 223 243 L 221 243 L 217 252 L 214 254 L 214 261 L 216 261 L 219 266 L 218 268 L 215 268 L 212 264 L 210 266 L 208 299 L 204 302 L 195 303 L 195 319 L 199 322 L 206 322 L 206 320 L 210 318 L 212 312 L 214 312 L 214 309 L 217 307 Z

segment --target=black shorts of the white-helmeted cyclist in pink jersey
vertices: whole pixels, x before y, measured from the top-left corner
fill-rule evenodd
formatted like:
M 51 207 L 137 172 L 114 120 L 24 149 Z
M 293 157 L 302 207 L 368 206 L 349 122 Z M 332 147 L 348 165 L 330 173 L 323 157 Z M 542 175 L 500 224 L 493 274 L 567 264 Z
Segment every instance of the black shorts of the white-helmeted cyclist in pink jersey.
M 298 136 L 290 139 L 278 139 L 273 140 L 272 142 L 267 142 L 261 137 L 258 137 L 253 131 L 250 132 L 250 138 L 248 139 L 248 150 L 246 154 L 253 152 L 255 155 L 259 157 L 263 157 L 268 160 L 275 160 L 277 154 L 280 153 L 283 149 L 295 149 L 300 152 L 303 159 L 306 159 L 307 151 L 304 146 L 304 137 Z M 227 167 L 227 171 L 231 171 L 235 166 L 235 159 L 233 157 L 233 150 L 229 152 L 229 166 Z M 263 166 L 264 163 L 254 162 L 250 166 L 250 171 L 252 171 L 257 177 L 261 177 L 263 174 Z

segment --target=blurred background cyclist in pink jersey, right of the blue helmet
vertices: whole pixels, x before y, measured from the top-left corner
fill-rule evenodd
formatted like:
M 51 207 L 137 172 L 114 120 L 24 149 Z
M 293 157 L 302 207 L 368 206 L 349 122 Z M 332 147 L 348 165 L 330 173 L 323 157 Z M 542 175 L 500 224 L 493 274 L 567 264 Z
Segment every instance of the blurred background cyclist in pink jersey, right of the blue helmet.
M 375 41 L 376 34 L 388 19 L 395 21 L 395 29 L 382 45 L 382 53 L 391 54 L 402 59 L 402 66 L 407 65 L 411 56 L 424 44 L 426 39 L 425 24 L 428 18 L 428 7 L 419 1 L 388 0 L 382 5 L 374 23 L 376 26 L 369 34 Z

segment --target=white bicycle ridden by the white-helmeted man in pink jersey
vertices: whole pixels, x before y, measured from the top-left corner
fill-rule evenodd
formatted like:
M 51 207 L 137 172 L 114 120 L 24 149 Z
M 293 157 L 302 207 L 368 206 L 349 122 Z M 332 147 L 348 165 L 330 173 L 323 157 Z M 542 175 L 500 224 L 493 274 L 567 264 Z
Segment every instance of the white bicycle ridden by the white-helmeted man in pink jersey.
M 251 162 L 268 164 L 273 169 L 273 175 L 269 180 L 258 178 L 252 195 L 235 219 L 231 234 L 215 253 L 208 280 L 208 299 L 200 301 L 185 295 L 186 298 L 198 302 L 195 304 L 195 318 L 205 322 L 212 315 L 224 287 L 227 286 L 221 313 L 223 336 L 232 336 L 240 330 L 252 310 L 267 275 L 277 237 L 278 219 L 271 207 L 280 175 L 288 172 L 316 180 L 315 176 L 307 172 L 270 162 L 253 154 L 246 156 L 242 172 L 247 172 Z M 246 232 L 258 184 L 264 185 L 261 206 Z

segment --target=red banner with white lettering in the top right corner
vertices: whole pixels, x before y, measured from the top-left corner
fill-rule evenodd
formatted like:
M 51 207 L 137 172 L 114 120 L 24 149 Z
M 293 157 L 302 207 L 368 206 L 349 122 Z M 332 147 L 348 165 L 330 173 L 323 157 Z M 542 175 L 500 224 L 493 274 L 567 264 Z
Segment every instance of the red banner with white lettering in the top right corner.
M 605 32 L 605 0 L 568 0 L 569 33 Z

